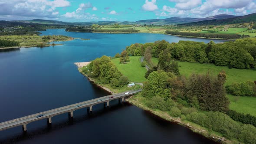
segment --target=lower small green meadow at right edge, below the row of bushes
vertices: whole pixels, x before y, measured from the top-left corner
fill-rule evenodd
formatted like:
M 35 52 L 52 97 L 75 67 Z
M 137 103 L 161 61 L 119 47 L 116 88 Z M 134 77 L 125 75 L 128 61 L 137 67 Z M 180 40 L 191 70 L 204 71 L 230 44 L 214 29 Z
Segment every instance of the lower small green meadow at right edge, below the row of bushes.
M 230 99 L 230 109 L 256 116 L 256 97 L 227 95 Z

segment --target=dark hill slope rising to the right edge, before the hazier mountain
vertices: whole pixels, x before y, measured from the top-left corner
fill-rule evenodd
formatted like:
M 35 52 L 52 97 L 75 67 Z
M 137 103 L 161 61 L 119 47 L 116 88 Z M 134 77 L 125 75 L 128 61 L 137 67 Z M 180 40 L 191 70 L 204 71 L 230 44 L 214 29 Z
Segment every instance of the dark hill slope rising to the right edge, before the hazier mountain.
M 256 22 L 256 13 L 248 14 L 245 16 L 237 16 L 228 19 L 215 19 L 215 20 L 203 20 L 193 23 L 184 23 L 179 25 L 185 26 L 200 26 L 200 25 L 223 25 L 223 24 L 233 24 L 233 23 L 250 23 Z

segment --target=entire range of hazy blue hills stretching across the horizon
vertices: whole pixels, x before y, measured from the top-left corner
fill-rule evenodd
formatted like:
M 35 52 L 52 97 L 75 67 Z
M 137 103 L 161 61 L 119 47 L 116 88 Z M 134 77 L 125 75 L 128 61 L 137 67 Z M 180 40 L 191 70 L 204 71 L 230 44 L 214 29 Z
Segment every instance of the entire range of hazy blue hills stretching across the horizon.
M 220 14 L 216 16 L 209 16 L 205 18 L 181 18 L 181 17 L 170 17 L 167 19 L 153 19 L 153 20 L 138 20 L 135 22 L 118 22 L 118 21 L 98 21 L 98 22 L 62 22 L 58 20 L 12 20 L 12 21 L 0 21 L 0 25 L 10 25 L 10 24 L 28 24 L 28 23 L 39 23 L 39 24 L 51 24 L 51 25 L 92 25 L 101 24 L 109 25 L 113 23 L 120 24 L 154 24 L 154 25 L 220 25 L 220 24 L 232 24 L 232 23 L 246 23 L 246 22 L 256 22 L 256 13 L 252 13 L 245 16 L 234 16 Z

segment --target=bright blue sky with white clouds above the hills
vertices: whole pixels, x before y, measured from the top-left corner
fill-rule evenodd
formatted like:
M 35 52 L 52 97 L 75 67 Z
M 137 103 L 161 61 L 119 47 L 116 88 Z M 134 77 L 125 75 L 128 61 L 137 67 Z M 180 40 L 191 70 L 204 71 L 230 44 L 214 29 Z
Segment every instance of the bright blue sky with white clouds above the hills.
M 256 13 L 256 0 L 0 0 L 0 20 L 137 21 Z

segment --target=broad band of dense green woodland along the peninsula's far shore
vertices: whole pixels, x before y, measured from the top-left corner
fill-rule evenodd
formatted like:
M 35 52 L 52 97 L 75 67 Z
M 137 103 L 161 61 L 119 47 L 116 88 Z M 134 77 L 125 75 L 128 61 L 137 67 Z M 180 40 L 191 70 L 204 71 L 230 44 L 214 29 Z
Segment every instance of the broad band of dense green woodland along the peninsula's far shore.
M 126 50 L 129 56 L 144 56 L 147 48 L 151 51 L 151 57 L 159 57 L 164 51 L 172 60 L 213 63 L 217 66 L 228 66 L 230 69 L 256 69 L 256 38 L 237 39 L 225 43 L 169 43 L 162 40 L 154 43 L 135 43 L 127 46 Z

